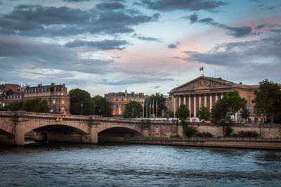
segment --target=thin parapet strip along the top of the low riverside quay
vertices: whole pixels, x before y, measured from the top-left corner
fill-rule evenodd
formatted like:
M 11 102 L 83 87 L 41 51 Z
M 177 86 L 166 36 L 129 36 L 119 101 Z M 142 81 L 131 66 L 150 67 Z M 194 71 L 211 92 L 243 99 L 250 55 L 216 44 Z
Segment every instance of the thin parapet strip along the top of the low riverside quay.
M 250 138 L 250 137 L 126 137 L 126 141 L 242 141 L 242 142 L 281 142 L 281 138 Z

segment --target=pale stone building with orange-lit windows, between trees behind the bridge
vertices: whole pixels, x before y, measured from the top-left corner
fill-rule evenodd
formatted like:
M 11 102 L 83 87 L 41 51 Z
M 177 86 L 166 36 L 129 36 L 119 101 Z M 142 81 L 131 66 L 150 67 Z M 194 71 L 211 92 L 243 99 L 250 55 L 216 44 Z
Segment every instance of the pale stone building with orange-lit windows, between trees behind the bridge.
M 121 116 L 125 110 L 126 103 L 130 101 L 136 101 L 143 105 L 145 103 L 145 96 L 144 93 L 127 93 L 125 92 L 118 92 L 118 93 L 105 93 L 105 99 L 107 102 L 110 103 L 110 108 L 112 110 L 112 115 Z

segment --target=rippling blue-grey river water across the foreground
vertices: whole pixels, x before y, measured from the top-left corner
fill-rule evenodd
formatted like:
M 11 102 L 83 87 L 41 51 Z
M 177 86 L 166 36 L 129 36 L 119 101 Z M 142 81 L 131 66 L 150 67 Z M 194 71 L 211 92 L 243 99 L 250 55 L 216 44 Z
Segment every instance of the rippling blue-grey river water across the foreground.
M 281 151 L 138 144 L 0 147 L 0 186 L 280 186 Z

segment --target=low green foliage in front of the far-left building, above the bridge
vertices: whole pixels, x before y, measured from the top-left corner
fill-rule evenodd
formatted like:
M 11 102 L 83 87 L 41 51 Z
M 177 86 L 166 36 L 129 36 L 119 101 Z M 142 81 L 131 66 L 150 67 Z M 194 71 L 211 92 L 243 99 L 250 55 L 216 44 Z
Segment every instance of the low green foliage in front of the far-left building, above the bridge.
M 16 111 L 25 110 L 27 112 L 48 112 L 48 102 L 46 100 L 41 101 L 41 98 L 27 99 L 27 101 L 14 101 L 4 108 L 0 108 L 0 111 Z

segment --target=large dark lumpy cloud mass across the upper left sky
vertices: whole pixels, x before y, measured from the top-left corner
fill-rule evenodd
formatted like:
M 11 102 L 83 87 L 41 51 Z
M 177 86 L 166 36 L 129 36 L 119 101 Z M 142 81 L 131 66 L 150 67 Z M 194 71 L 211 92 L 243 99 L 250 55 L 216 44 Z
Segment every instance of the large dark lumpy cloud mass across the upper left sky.
M 0 15 L 0 33 L 27 36 L 70 36 L 75 34 L 117 34 L 133 32 L 134 25 L 156 21 L 159 14 L 144 15 L 135 9 L 112 9 L 122 4 L 99 4 L 81 11 L 67 6 L 16 6 Z M 111 7 L 111 8 L 110 8 Z

